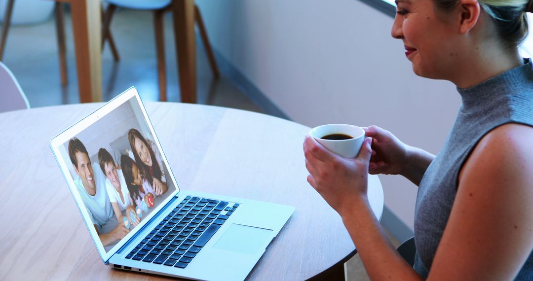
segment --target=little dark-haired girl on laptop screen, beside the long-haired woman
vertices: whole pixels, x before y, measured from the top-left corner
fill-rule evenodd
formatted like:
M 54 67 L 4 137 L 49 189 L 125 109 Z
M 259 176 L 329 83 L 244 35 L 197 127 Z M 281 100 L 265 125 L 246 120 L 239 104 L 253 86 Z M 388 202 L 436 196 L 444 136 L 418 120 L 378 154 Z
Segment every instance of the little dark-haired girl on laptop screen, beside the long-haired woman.
M 135 206 L 139 206 L 140 208 L 143 200 L 148 203 L 147 197 L 149 194 L 151 194 L 154 199 L 159 195 L 154 191 L 154 188 L 150 185 L 149 181 L 142 176 L 141 170 L 130 156 L 122 155 L 120 157 L 120 166 L 124 172 L 124 179 L 128 191 L 130 191 L 135 202 Z

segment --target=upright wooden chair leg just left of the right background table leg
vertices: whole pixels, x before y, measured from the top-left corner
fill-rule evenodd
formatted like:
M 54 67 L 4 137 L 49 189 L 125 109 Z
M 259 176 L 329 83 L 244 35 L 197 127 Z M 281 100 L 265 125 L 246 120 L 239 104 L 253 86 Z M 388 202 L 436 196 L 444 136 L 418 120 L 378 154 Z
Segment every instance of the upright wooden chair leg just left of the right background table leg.
M 166 102 L 165 37 L 163 33 L 163 15 L 164 10 L 154 11 L 159 94 L 161 102 Z

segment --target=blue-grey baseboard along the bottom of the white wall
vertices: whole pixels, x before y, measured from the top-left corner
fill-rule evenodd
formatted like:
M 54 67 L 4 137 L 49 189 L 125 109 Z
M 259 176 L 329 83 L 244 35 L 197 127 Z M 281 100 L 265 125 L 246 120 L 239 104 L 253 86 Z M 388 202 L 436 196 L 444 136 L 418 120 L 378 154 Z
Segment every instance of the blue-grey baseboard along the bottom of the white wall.
M 257 88 L 252 81 L 248 80 L 246 76 L 240 72 L 225 56 L 220 54 L 216 49 L 213 49 L 216 62 L 219 65 L 220 71 L 233 84 L 239 88 L 253 103 L 255 103 L 263 111 L 263 113 L 290 120 L 287 114 L 281 111 L 276 104 L 274 104 L 268 97 L 266 97 L 259 88 Z M 293 121 L 293 120 L 290 120 Z M 383 207 L 383 216 L 381 217 L 381 225 L 400 242 L 406 241 L 413 237 L 413 230 L 403 223 L 387 206 Z

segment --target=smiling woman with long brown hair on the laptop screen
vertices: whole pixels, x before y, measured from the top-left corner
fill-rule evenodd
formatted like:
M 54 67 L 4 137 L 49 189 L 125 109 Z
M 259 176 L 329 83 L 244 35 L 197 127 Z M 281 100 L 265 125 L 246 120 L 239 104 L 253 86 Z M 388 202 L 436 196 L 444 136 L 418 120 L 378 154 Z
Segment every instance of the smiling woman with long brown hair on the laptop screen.
M 128 140 L 143 177 L 149 180 L 157 195 L 165 193 L 167 185 L 165 173 L 162 169 L 163 161 L 156 144 L 142 137 L 141 133 L 136 129 L 130 129 Z

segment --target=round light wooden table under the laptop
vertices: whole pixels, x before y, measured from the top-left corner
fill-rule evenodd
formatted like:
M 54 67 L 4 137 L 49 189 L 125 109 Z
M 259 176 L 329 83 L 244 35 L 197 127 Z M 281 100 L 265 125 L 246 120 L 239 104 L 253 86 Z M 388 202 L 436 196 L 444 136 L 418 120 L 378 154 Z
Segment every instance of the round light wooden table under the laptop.
M 100 105 L 0 114 L 1 280 L 164 278 L 104 266 L 49 147 L 53 136 Z M 308 127 L 214 106 L 146 106 L 181 189 L 295 206 L 248 279 L 342 276 L 356 250 L 340 216 L 306 181 Z M 376 176 L 369 178 L 369 199 L 381 218 Z

